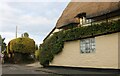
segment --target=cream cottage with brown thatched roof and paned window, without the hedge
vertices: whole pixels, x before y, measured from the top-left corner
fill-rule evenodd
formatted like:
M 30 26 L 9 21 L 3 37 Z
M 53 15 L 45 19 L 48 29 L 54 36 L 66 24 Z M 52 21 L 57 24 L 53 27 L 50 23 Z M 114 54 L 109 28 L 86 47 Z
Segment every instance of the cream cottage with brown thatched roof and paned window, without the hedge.
M 101 23 L 109 26 L 115 21 L 120 21 L 120 2 L 70 2 L 54 30 L 89 27 Z M 50 34 L 52 33 L 53 31 Z M 50 65 L 120 69 L 119 56 L 120 31 L 114 31 L 64 42 L 62 52 L 54 57 Z

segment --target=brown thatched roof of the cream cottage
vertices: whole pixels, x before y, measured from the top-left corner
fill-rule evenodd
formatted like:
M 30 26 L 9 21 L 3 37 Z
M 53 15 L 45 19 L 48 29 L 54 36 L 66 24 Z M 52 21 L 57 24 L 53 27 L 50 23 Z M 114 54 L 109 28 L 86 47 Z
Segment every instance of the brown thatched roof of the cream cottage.
M 57 21 L 56 27 L 78 22 L 74 17 L 82 12 L 86 12 L 87 16 L 95 16 L 119 8 L 120 2 L 70 2 Z

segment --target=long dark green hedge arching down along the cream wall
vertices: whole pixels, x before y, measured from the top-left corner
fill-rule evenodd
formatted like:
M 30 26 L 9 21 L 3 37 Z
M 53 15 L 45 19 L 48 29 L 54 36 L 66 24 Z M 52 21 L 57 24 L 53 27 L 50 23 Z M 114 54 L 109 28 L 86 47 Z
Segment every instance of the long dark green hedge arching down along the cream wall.
M 120 32 L 120 20 L 56 32 L 40 46 L 40 64 L 48 66 L 54 56 L 62 51 L 65 41 L 95 37 L 115 32 Z

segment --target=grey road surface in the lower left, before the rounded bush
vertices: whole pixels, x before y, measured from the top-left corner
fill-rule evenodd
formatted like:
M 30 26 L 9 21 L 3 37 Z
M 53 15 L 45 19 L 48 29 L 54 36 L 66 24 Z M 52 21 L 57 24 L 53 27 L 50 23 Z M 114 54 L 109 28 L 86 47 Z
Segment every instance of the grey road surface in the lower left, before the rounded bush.
M 2 74 L 49 74 L 47 72 L 36 71 L 35 67 L 28 67 L 16 64 L 4 64 Z

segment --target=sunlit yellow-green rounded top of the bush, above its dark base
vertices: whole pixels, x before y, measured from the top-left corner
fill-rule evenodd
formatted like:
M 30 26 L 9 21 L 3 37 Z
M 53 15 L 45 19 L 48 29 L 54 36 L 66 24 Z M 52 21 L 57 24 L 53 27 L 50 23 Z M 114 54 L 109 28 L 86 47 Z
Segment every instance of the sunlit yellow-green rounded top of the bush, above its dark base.
M 35 41 L 30 38 L 16 38 L 8 43 L 8 52 L 34 53 Z

